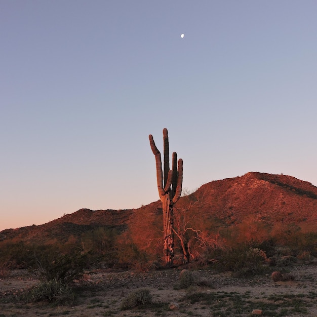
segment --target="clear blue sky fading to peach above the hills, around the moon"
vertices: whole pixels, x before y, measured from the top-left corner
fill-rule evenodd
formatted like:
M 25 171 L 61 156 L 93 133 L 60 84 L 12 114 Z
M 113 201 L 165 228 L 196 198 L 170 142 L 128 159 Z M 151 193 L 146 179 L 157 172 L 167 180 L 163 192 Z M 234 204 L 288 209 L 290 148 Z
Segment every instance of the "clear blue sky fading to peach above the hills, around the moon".
M 1 0 L 0 230 L 250 171 L 317 185 L 317 2 Z M 184 38 L 180 35 L 184 33 Z

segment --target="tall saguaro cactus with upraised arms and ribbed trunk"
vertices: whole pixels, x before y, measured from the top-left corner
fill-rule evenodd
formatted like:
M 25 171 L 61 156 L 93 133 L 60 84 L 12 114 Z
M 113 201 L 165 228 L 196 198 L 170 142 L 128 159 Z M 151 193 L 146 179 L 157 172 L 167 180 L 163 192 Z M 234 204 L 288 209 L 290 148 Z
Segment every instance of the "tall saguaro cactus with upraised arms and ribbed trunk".
M 164 164 L 162 170 L 161 153 L 157 149 L 151 134 L 149 140 L 152 152 L 155 155 L 157 189 L 159 189 L 163 204 L 165 264 L 171 267 L 174 259 L 173 205 L 178 201 L 182 192 L 183 160 L 179 159 L 177 162 L 177 154 L 173 152 L 172 170 L 170 170 L 169 138 L 165 128 L 163 129 Z

